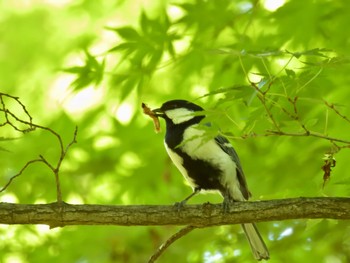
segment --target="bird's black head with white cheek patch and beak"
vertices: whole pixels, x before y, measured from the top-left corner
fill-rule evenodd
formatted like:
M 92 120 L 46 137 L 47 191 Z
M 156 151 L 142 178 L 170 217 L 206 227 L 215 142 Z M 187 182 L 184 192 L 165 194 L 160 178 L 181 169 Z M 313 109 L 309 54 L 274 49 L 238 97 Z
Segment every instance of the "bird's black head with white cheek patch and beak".
M 157 116 L 165 119 L 167 125 L 178 125 L 190 120 L 200 122 L 204 116 L 195 115 L 194 112 L 203 111 L 204 109 L 187 100 L 170 100 L 152 112 Z

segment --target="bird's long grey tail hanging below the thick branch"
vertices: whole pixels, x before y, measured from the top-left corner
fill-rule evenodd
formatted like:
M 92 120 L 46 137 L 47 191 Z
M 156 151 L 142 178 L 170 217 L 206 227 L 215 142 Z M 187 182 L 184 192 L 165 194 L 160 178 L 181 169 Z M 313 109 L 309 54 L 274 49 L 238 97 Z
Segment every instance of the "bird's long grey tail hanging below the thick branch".
M 255 224 L 242 224 L 242 228 L 249 241 L 254 257 L 257 260 L 268 260 L 270 258 L 269 251 Z

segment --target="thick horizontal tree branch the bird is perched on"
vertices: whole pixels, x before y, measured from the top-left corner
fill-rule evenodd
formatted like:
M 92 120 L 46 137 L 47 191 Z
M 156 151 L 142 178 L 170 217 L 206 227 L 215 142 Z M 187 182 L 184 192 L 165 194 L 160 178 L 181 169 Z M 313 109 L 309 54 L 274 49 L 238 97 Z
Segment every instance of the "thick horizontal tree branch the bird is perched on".
M 191 225 L 208 227 L 288 219 L 350 219 L 350 198 L 291 198 L 236 202 L 227 213 L 221 204 L 158 205 L 70 205 L 0 203 L 0 224 L 67 225 Z

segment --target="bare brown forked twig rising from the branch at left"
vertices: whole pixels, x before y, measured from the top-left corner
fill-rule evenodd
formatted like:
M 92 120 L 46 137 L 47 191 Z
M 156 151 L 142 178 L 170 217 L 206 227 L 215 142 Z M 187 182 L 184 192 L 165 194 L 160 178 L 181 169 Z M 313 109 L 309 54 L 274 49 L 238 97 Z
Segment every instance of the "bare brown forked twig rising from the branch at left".
M 14 101 L 15 103 L 17 103 L 20 106 L 20 108 L 22 108 L 22 110 L 23 110 L 25 116 L 28 118 L 28 120 L 24 120 L 22 118 L 19 118 L 15 113 L 13 113 L 7 107 L 7 104 L 5 102 L 5 98 L 10 99 L 10 100 Z M 66 146 L 64 146 L 62 138 L 57 132 L 55 132 L 51 128 L 33 123 L 32 116 L 29 114 L 27 108 L 20 101 L 20 99 L 18 97 L 0 92 L 0 105 L 1 105 L 0 112 L 3 112 L 3 116 L 4 116 L 4 122 L 0 123 L 0 127 L 4 127 L 4 126 L 8 125 L 8 126 L 12 127 L 14 130 L 21 132 L 23 134 L 25 134 L 27 132 L 32 132 L 35 129 L 45 130 L 45 131 L 51 133 L 54 137 L 56 137 L 56 139 L 59 143 L 59 148 L 60 148 L 60 155 L 59 155 L 59 159 L 58 159 L 56 164 L 50 163 L 49 161 L 47 161 L 47 159 L 43 155 L 39 155 L 38 159 L 28 161 L 17 174 L 13 175 L 9 179 L 9 181 L 0 189 L 0 193 L 4 192 L 10 186 L 10 184 L 13 182 L 13 180 L 15 178 L 19 177 L 30 165 L 32 165 L 33 163 L 42 162 L 47 167 L 49 167 L 49 169 L 55 175 L 57 202 L 62 203 L 62 192 L 61 192 L 59 172 L 60 172 L 62 161 L 66 157 L 66 154 L 67 154 L 69 148 L 74 143 L 76 143 L 78 127 L 75 127 L 72 141 L 70 143 L 68 143 Z M 24 125 L 24 127 L 28 127 L 28 128 L 20 128 L 19 125 L 17 125 L 17 123 L 22 124 L 22 125 Z

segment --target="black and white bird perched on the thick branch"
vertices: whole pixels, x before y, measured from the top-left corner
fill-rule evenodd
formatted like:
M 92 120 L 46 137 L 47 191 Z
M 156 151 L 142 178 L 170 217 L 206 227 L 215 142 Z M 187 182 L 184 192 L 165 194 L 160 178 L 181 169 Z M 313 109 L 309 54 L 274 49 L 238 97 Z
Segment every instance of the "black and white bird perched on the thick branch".
M 204 115 L 194 114 L 203 108 L 186 100 L 165 102 L 152 110 L 166 122 L 165 148 L 175 166 L 193 188 L 182 204 L 201 190 L 216 190 L 224 198 L 224 206 L 250 197 L 238 155 L 223 136 L 206 140 L 199 129 Z M 269 259 L 268 249 L 255 224 L 242 224 L 253 255 L 257 260 Z

